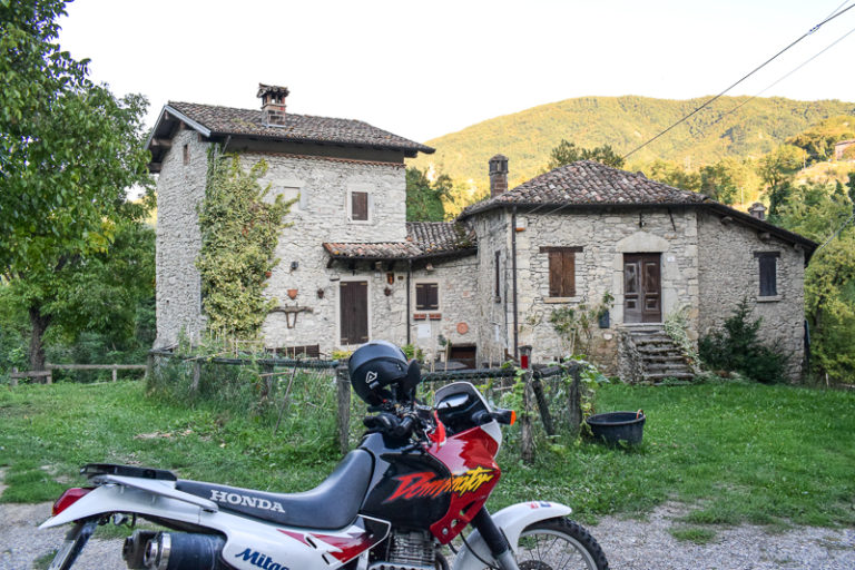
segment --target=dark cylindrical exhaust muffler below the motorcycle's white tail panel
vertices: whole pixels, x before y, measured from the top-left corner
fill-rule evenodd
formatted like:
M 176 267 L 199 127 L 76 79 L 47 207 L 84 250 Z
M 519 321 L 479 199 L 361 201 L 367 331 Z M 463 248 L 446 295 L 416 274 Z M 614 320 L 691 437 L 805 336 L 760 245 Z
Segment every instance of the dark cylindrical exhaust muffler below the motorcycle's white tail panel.
M 135 537 L 137 533 L 126 540 L 126 549 L 130 549 L 127 546 L 128 541 L 132 541 Z M 140 542 L 138 538 L 136 544 Z M 222 570 L 227 568 L 220 561 L 225 543 L 226 540 L 219 534 L 158 532 L 145 542 L 140 568 L 144 570 Z M 134 568 L 128 557 L 126 560 L 128 567 Z

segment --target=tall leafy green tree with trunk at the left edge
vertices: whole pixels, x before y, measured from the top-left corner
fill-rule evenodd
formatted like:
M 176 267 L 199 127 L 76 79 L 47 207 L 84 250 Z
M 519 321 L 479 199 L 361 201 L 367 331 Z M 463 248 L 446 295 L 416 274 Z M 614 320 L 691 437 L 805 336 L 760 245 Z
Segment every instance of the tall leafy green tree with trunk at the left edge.
M 26 302 L 30 366 L 42 370 L 43 334 L 73 293 L 69 272 L 109 255 L 128 204 L 150 187 L 144 97 L 116 98 L 56 43 L 65 2 L 0 0 L 0 266 Z

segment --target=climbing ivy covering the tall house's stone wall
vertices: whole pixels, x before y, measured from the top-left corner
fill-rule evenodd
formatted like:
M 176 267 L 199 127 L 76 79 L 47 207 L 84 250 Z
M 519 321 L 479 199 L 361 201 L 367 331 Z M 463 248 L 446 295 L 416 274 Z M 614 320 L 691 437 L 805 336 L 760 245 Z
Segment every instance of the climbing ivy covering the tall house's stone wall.
M 196 267 L 202 274 L 203 308 L 208 331 L 237 338 L 255 338 L 277 301 L 264 295 L 267 277 L 278 264 L 274 250 L 283 218 L 293 200 L 263 198 L 269 186 L 258 179 L 267 171 L 259 160 L 245 170 L 236 155 L 220 155 L 212 146 L 205 199 L 199 206 L 202 249 Z

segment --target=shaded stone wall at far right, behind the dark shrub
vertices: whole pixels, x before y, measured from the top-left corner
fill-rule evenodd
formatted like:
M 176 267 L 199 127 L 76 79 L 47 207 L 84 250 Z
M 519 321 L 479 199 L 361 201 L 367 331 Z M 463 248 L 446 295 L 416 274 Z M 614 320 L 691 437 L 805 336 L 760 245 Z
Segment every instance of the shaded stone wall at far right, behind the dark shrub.
M 720 327 L 736 305 L 747 297 L 754 318 L 761 317 L 760 337 L 777 344 L 789 360 L 790 379 L 802 374 L 804 358 L 805 253 L 774 236 L 760 238 L 757 230 L 719 216 L 699 214 L 699 332 Z M 764 236 L 766 237 L 766 236 Z M 778 252 L 777 295 L 760 297 L 760 252 Z

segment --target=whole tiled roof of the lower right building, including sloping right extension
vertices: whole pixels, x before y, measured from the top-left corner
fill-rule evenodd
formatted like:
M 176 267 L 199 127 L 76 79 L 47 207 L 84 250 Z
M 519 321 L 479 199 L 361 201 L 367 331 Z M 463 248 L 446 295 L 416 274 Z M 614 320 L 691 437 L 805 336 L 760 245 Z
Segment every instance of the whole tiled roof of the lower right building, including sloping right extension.
M 675 188 L 651 180 L 641 173 L 628 173 L 592 160 L 579 160 L 535 176 L 499 196 L 469 206 L 458 219 L 464 220 L 480 213 L 509 206 L 534 208 L 535 210 L 544 208 L 541 210 L 543 214 L 558 210 L 569 213 L 573 209 L 599 207 L 691 206 L 714 212 L 723 217 L 729 217 L 745 226 L 775 235 L 785 242 L 800 244 L 806 248 L 808 255 L 818 245 L 804 236 L 719 204 L 702 194 Z

